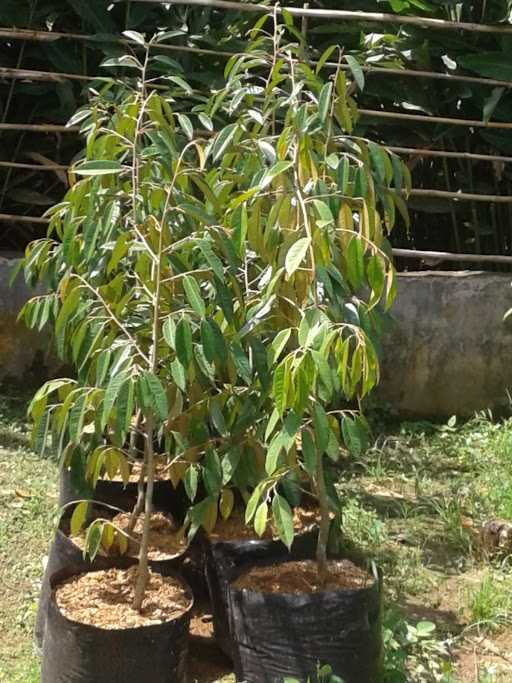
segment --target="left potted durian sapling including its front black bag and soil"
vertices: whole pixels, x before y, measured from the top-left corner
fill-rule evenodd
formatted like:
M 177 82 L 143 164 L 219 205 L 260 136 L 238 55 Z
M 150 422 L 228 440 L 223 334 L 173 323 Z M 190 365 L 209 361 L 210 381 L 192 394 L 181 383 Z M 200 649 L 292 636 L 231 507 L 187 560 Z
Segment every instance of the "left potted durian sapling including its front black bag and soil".
M 68 566 L 52 575 L 44 683 L 184 680 L 192 596 L 178 575 L 151 563 L 159 457 L 173 481 L 185 478 L 192 498 L 195 475 L 203 474 L 209 499 L 196 510 L 199 523 L 211 524 L 219 498 L 229 505 L 213 448 L 229 436 L 221 406 L 239 401 L 232 352 L 216 321 L 216 312 L 232 310 L 223 284 L 227 240 L 213 237 L 222 209 L 192 124 L 210 120 L 181 76 L 169 77 L 172 90 L 155 89 L 169 86 L 152 52 L 166 35 L 149 45 L 139 34 L 129 38 L 145 48 L 144 59 L 129 54 L 107 65 L 132 69 L 135 84 L 105 86 L 79 115 L 85 158 L 49 212 L 49 236 L 32 243 L 25 259 L 28 275 L 50 290 L 24 316 L 53 323 L 76 369 L 76 378 L 36 394 L 36 438 L 51 435 L 63 462 L 82 468 L 92 484 L 102 469 L 127 480 L 134 444 L 143 451 L 139 498 L 126 523 L 106 515 L 91 523 L 86 500 L 70 519 L 73 534 L 86 527 L 91 558 L 125 553 L 140 526 L 137 558 L 107 557 L 100 570 Z

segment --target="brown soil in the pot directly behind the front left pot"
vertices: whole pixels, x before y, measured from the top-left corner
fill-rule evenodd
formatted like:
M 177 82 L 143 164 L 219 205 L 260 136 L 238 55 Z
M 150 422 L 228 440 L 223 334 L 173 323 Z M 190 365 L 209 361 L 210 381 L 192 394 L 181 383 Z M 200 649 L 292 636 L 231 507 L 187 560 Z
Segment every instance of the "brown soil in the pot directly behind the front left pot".
M 94 517 L 96 519 L 102 516 L 105 517 L 104 511 L 95 510 Z M 112 517 L 112 524 L 121 531 L 127 532 L 130 518 L 131 514 L 129 512 L 120 512 Z M 131 538 L 128 541 L 127 555 L 135 557 L 138 554 L 143 526 L 144 513 L 141 513 L 135 524 L 134 530 L 130 534 Z M 83 548 L 85 544 L 85 535 L 86 530 L 84 529 L 78 536 L 72 536 L 71 540 L 79 548 Z M 154 512 L 151 515 L 151 528 L 149 532 L 149 559 L 169 560 L 172 557 L 181 555 L 186 549 L 186 538 L 184 538 L 183 533 L 177 530 L 177 524 L 172 520 L 170 515 L 162 512 Z M 107 553 L 104 548 L 100 547 L 99 554 L 107 556 L 112 555 L 113 553 Z

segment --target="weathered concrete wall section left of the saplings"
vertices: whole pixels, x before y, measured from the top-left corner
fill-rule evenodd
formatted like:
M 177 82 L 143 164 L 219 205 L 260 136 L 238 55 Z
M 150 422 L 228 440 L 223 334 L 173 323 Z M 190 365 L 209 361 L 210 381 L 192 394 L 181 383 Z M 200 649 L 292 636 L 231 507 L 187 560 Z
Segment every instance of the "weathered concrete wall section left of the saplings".
M 39 382 L 55 371 L 48 331 L 41 334 L 16 322 L 24 303 L 34 296 L 23 274 L 10 287 L 18 260 L 0 254 L 0 381 Z

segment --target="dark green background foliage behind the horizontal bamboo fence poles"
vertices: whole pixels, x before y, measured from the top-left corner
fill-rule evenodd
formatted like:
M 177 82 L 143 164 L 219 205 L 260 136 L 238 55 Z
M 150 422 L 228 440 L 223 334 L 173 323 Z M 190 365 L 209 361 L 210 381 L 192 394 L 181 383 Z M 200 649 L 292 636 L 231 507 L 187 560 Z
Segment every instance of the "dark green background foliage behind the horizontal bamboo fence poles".
M 302 6 L 290 0 L 289 6 Z M 317 0 L 315 8 L 337 8 L 335 0 Z M 353 0 L 350 8 L 457 19 L 482 23 L 510 22 L 510 0 Z M 122 49 L 106 41 L 107 34 L 118 36 L 126 28 L 154 32 L 155 27 L 176 28 L 183 35 L 174 43 L 213 50 L 240 50 L 245 32 L 254 21 L 251 14 L 207 8 L 171 7 L 137 2 L 109 6 L 102 0 L 3 0 L 2 26 L 33 27 L 53 31 L 92 33 L 94 43 L 76 40 L 26 42 L 0 39 L 3 66 L 58 71 L 95 76 L 105 72 L 100 63 Z M 368 65 L 462 73 L 473 76 L 512 80 L 508 55 L 512 34 L 471 33 L 433 30 L 399 24 L 316 21 L 307 22 L 310 54 L 320 54 L 332 42 L 345 48 Z M 166 53 L 169 55 L 169 53 Z M 172 54 L 197 90 L 209 93 L 219 84 L 226 58 L 176 52 Z M 12 97 L 11 97 L 12 95 Z M 6 122 L 63 123 L 87 98 L 86 84 L 80 81 L 58 83 L 11 81 L 0 83 L 0 120 Z M 512 96 L 507 88 L 472 83 L 372 74 L 367 78 L 358 103 L 365 109 L 384 109 L 413 114 L 465 119 L 512 119 Z M 446 148 L 479 153 L 512 154 L 508 131 L 429 123 L 382 121 L 362 118 L 358 132 L 388 144 L 423 148 Z M 69 162 L 79 143 L 72 135 L 16 133 L 0 131 L 2 160 L 47 163 L 41 157 Z M 512 194 L 509 165 L 468 162 L 463 159 L 408 160 L 416 188 L 461 190 L 486 194 Z M 27 213 L 47 208 L 65 190 L 62 172 L 2 169 L 0 174 L 0 212 Z M 395 246 L 448 249 L 459 252 L 512 253 L 512 209 L 509 205 L 448 202 L 444 199 L 414 197 L 410 201 L 413 229 L 396 231 Z M 4 230 L 3 247 L 24 246 L 44 227 L 12 225 Z M 39 232 L 38 232 L 39 231 Z M 402 264 L 403 265 L 403 264 Z M 418 265 L 418 264 L 414 264 Z M 400 264 L 399 264 L 400 266 Z M 457 264 L 460 267 L 460 264 Z

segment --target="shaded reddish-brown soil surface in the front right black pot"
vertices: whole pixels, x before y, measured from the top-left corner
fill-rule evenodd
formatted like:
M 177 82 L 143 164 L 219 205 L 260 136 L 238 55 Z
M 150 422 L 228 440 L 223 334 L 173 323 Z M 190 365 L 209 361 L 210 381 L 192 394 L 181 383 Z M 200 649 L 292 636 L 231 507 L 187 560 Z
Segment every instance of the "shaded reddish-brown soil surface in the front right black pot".
M 343 589 L 366 588 L 375 579 L 350 560 L 330 560 L 329 576 L 321 583 L 316 562 L 284 562 L 267 567 L 253 567 L 235 582 L 235 588 L 247 588 L 259 593 L 318 593 Z

